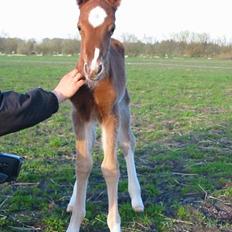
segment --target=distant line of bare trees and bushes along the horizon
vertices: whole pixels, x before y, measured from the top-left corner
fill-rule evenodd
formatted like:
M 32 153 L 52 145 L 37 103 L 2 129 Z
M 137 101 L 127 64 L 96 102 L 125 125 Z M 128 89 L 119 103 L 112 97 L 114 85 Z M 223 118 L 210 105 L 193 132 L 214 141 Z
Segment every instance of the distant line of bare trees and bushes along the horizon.
M 216 57 L 232 59 L 232 43 L 226 39 L 212 40 L 208 34 L 181 32 L 158 41 L 152 37 L 138 39 L 124 34 L 122 41 L 128 56 L 159 57 Z M 80 52 L 79 39 L 22 40 L 0 36 L 0 53 L 23 55 L 74 55 Z

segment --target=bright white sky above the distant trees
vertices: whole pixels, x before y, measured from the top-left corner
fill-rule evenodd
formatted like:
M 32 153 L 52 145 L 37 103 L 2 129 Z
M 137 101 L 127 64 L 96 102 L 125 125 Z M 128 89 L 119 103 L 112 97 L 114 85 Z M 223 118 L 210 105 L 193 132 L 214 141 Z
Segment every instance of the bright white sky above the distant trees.
M 167 39 L 181 31 L 232 41 L 232 0 L 122 0 L 114 37 Z M 76 38 L 76 0 L 0 0 L 0 35 Z

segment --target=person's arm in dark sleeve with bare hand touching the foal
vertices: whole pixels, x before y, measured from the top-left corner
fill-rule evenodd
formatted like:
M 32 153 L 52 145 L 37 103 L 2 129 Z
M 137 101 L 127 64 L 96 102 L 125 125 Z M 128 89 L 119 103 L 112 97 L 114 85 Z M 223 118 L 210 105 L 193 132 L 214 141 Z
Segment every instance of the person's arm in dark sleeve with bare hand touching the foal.
M 41 88 L 26 94 L 0 92 L 0 136 L 44 121 L 57 112 L 59 103 L 74 95 L 84 84 L 77 70 L 66 74 L 50 92 Z

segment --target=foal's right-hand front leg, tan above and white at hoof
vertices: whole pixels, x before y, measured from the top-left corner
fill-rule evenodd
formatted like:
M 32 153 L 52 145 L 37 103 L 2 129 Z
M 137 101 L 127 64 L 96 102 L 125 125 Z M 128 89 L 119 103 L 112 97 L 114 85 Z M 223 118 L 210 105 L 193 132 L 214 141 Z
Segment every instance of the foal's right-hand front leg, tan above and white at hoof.
M 107 224 L 110 232 L 121 231 L 121 219 L 118 212 L 118 181 L 120 173 L 116 154 L 117 131 L 118 118 L 116 115 L 107 116 L 103 119 L 102 143 L 104 160 L 101 169 L 107 185 L 109 208 Z

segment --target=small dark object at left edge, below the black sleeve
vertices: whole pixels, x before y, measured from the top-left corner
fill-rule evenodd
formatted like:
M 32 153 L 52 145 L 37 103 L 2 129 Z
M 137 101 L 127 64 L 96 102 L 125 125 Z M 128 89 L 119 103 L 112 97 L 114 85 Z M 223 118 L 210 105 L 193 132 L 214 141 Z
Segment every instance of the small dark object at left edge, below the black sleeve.
M 23 159 L 17 155 L 0 153 L 0 184 L 16 180 Z

